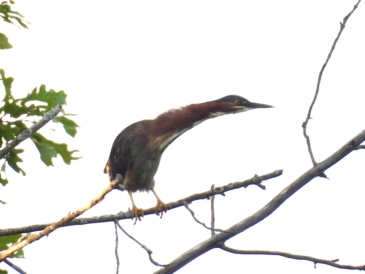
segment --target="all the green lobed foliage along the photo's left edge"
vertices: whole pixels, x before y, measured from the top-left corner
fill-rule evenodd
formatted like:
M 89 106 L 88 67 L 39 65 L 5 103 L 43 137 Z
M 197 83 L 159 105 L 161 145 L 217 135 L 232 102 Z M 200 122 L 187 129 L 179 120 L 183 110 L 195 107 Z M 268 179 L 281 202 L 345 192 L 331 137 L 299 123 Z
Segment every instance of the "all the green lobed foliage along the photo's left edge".
M 13 0 L 9 1 L 10 4 L 14 4 Z M 7 1 L 3 1 L 0 4 L 0 16 L 7 23 L 14 24 L 15 22 L 24 28 L 28 28 L 26 25 L 28 22 L 23 20 L 24 16 L 17 11 L 13 11 L 11 9 L 11 5 L 9 5 Z M 11 49 L 12 47 L 13 46 L 8 42 L 8 38 L 5 34 L 0 33 L 0 50 Z M 5 96 L 3 102 L 0 104 L 0 148 L 3 148 L 6 144 L 14 140 L 16 136 L 28 129 L 32 122 L 25 120 L 24 118 L 34 117 L 37 118 L 36 120 L 38 121 L 38 117 L 43 117 L 46 112 L 50 111 L 58 104 L 66 104 L 67 95 L 64 91 L 56 92 L 52 89 L 47 91 L 45 85 L 41 85 L 39 87 L 39 91 L 37 91 L 37 88 L 34 88 L 34 90 L 24 98 L 15 99 L 11 94 L 11 85 L 14 79 L 12 77 L 5 77 L 3 69 L 0 69 L 0 77 L 0 81 L 3 81 L 5 88 Z M 54 117 L 53 122 L 61 123 L 66 133 L 74 137 L 77 133 L 76 128 L 78 125 L 71 119 L 64 117 L 65 115 L 72 114 L 65 114 L 63 109 L 62 113 L 64 115 Z M 57 157 L 57 154 L 61 155 L 66 164 L 70 164 L 71 160 L 80 158 L 72 156 L 76 150 L 69 151 L 66 144 L 58 144 L 48 140 L 38 132 L 32 134 L 31 140 L 37 147 L 39 154 L 41 155 L 41 160 L 47 166 L 53 165 L 52 158 Z M 22 168 L 18 165 L 23 162 L 22 158 L 19 157 L 20 153 L 23 152 L 24 149 L 12 149 L 7 155 L 5 155 L 4 162 L 1 165 L 0 170 L 0 184 L 2 186 L 5 186 L 8 183 L 5 172 L 7 165 L 16 172 L 22 172 L 24 176 L 26 175 Z M 5 204 L 2 200 L 0 200 L 0 203 Z M 21 234 L 0 237 L 0 252 L 16 243 L 20 237 L 22 237 Z M 19 250 L 9 258 L 24 258 L 24 252 L 23 250 Z M 8 271 L 0 269 L 0 274 L 3 273 L 6 274 Z

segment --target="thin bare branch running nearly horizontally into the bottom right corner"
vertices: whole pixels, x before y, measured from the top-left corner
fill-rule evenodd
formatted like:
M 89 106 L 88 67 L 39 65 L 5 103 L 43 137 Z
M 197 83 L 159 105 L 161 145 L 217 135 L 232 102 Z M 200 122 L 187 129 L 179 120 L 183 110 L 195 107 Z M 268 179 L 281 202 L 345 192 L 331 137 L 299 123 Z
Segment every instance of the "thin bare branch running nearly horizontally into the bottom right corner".
M 337 268 L 342 269 L 357 269 L 357 270 L 365 270 L 365 266 L 350 266 L 350 265 L 340 265 L 336 262 L 338 262 L 338 259 L 335 260 L 324 260 L 324 259 L 318 259 L 310 256 L 304 256 L 304 255 L 295 255 L 287 252 L 280 252 L 280 251 L 266 251 L 266 250 L 238 250 L 234 248 L 227 247 L 225 244 L 222 244 L 219 246 L 222 250 L 235 253 L 235 254 L 258 254 L 258 255 L 278 255 L 283 256 L 289 259 L 296 259 L 296 260 L 308 260 L 314 263 L 314 267 L 316 267 L 317 263 L 322 263 L 324 265 L 329 265 Z

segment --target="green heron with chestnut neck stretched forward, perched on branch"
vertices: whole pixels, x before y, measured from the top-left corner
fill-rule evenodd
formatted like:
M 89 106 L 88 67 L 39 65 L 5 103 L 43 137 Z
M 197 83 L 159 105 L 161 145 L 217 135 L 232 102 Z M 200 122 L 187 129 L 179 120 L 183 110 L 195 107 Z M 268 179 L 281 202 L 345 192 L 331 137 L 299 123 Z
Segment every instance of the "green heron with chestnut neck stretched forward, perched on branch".
M 167 206 L 154 190 L 153 177 L 165 149 L 181 134 L 207 119 L 269 107 L 273 106 L 228 95 L 218 100 L 168 110 L 155 119 L 133 123 L 115 138 L 104 173 L 108 173 L 110 181 L 120 179 L 119 190 L 128 190 L 132 201 L 131 216 L 136 218 L 136 222 L 138 212 L 142 217 L 144 215 L 133 201 L 132 193 L 137 190 L 152 190 L 157 198 L 155 213 L 159 215 L 161 212 L 162 217 L 162 213 L 167 212 Z M 141 220 L 140 217 L 138 219 Z

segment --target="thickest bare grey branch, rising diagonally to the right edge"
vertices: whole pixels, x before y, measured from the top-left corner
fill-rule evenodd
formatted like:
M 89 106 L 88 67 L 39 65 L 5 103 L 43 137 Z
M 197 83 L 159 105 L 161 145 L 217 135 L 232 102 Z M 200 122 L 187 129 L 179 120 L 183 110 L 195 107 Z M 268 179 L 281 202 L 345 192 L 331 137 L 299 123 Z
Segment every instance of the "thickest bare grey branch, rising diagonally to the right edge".
M 267 205 L 265 205 L 262 209 L 258 210 L 258 212 L 247 217 L 245 220 L 238 222 L 232 227 L 226 229 L 228 232 L 233 232 L 233 233 L 222 232 L 212 236 L 208 240 L 203 241 L 202 243 L 191 248 L 184 254 L 178 256 L 170 263 L 169 266 L 163 267 L 162 269 L 156 271 L 155 274 L 174 273 L 181 267 L 187 265 L 193 259 L 199 257 L 205 252 L 211 250 L 212 248 L 217 248 L 222 246 L 222 243 L 224 243 L 226 240 L 241 233 L 242 231 L 245 231 L 247 228 L 252 227 L 258 222 L 264 220 L 271 213 L 273 213 L 282 203 L 284 203 L 291 195 L 293 195 L 296 191 L 298 191 L 301 187 L 310 182 L 313 178 L 323 174 L 323 172 L 327 170 L 327 168 L 331 167 L 339 160 L 341 160 L 343 157 L 348 155 L 351 151 L 357 148 L 358 145 L 360 145 L 364 141 L 365 141 L 365 129 L 357 136 L 352 138 L 345 145 L 343 145 L 338 151 L 333 153 L 333 155 L 328 157 L 326 160 L 318 163 L 310 170 L 305 172 L 303 175 L 301 175 L 299 178 L 297 178 L 293 183 L 291 183 L 289 186 L 283 189 L 278 195 L 276 195 L 276 197 L 274 197 Z

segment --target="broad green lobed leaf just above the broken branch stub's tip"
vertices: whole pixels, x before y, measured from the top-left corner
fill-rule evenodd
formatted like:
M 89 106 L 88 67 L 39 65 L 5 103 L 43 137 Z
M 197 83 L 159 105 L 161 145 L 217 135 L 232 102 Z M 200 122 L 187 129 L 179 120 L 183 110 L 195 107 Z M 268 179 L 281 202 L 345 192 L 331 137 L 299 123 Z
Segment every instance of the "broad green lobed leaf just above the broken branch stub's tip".
M 58 104 L 66 104 L 66 94 L 63 90 L 55 92 L 55 90 L 50 89 L 46 91 L 46 85 L 42 84 L 39 87 L 39 92 L 37 92 L 37 88 L 35 88 L 30 94 L 28 94 L 25 98 L 22 98 L 22 104 L 29 101 L 41 101 L 47 103 L 45 107 L 45 111 L 50 111 Z

